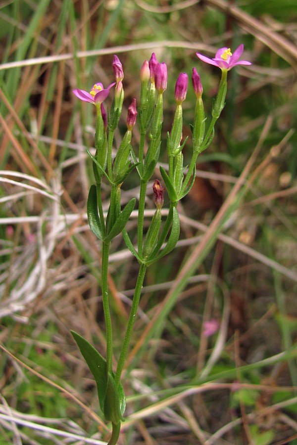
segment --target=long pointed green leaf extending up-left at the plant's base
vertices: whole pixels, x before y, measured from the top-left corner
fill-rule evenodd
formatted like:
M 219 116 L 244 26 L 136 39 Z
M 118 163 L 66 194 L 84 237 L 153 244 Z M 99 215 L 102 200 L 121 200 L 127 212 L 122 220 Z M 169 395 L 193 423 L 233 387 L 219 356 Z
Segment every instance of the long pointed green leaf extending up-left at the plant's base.
M 70 332 L 74 340 L 76 341 L 80 352 L 86 360 L 90 371 L 94 375 L 97 384 L 100 408 L 105 415 L 104 401 L 107 389 L 106 360 L 99 354 L 97 349 L 95 349 L 94 346 L 92 346 L 84 337 L 74 331 Z

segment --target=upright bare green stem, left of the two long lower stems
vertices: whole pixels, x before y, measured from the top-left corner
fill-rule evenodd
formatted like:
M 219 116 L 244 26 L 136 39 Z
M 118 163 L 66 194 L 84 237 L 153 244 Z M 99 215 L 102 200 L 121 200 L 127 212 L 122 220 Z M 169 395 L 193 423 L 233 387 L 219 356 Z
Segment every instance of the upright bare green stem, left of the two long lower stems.
M 108 257 L 110 243 L 102 243 L 102 271 L 101 271 L 101 289 L 102 302 L 106 326 L 106 371 L 112 372 L 112 326 L 109 312 L 107 273 L 108 273 Z

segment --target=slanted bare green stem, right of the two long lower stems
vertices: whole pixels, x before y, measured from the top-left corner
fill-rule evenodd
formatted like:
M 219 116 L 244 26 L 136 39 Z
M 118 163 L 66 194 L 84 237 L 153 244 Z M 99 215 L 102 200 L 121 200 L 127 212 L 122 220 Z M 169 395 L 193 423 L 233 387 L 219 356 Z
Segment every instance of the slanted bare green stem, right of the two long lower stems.
M 118 360 L 118 365 L 117 365 L 117 369 L 116 369 L 116 373 L 115 373 L 115 377 L 114 377 L 116 385 L 119 384 L 120 379 L 121 379 L 124 363 L 125 363 L 127 352 L 128 352 L 129 343 L 131 340 L 131 334 L 132 334 L 133 326 L 134 326 L 135 319 L 136 319 L 136 313 L 137 313 L 137 309 L 138 309 L 138 305 L 139 305 L 141 290 L 143 287 L 146 271 L 147 271 L 147 266 L 142 264 L 139 269 L 139 274 L 138 274 L 137 283 L 135 286 L 135 292 L 134 292 L 134 297 L 133 297 L 133 301 L 132 301 L 131 312 L 129 315 L 126 335 L 124 338 L 121 354 L 120 354 L 120 357 Z

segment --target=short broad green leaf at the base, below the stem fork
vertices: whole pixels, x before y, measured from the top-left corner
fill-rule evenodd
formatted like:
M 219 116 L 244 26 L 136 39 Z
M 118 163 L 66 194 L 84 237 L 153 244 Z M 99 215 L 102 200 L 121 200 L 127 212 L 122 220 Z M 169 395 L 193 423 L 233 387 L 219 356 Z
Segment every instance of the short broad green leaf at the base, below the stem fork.
M 123 414 L 126 408 L 126 397 L 121 383 L 116 386 L 113 375 L 108 373 L 106 386 L 106 396 L 104 401 L 104 415 L 106 420 L 110 420 L 117 425 L 124 421 Z

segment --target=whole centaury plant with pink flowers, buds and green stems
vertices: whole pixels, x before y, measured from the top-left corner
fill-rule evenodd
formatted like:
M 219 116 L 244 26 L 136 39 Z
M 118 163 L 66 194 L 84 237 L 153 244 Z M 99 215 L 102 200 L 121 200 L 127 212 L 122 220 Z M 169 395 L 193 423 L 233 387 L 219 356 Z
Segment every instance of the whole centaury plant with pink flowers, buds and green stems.
M 129 343 L 133 326 L 139 306 L 141 289 L 143 287 L 147 268 L 154 262 L 160 260 L 164 255 L 171 252 L 179 238 L 180 222 L 177 204 L 180 199 L 191 190 L 195 175 L 196 161 L 199 153 L 205 150 L 213 139 L 214 126 L 225 105 L 227 91 L 227 73 L 235 65 L 249 65 L 250 62 L 238 61 L 243 52 L 240 45 L 232 54 L 230 48 L 221 48 L 217 51 L 214 59 L 209 59 L 197 53 L 198 57 L 209 64 L 219 67 L 222 71 L 221 81 L 217 96 L 213 103 L 212 119 L 206 124 L 202 102 L 202 85 L 196 68 L 193 68 L 192 83 L 197 97 L 194 122 L 192 128 L 192 155 L 188 166 L 184 165 L 183 147 L 187 139 L 182 141 L 183 108 L 182 104 L 186 98 L 188 89 L 188 75 L 181 73 L 175 85 L 176 110 L 172 123 L 171 132 L 167 134 L 167 171 L 160 166 L 160 174 L 164 186 L 158 179 L 153 183 L 155 213 L 151 219 L 148 230 L 144 236 L 145 200 L 148 181 L 152 178 L 160 154 L 161 133 L 163 122 L 163 94 L 167 88 L 167 66 L 158 63 L 155 54 L 151 55 L 149 61 L 145 61 L 140 72 L 141 94 L 140 104 L 136 107 L 133 99 L 127 117 L 127 131 L 119 145 L 116 156 L 112 159 L 112 147 L 114 133 L 118 126 L 122 104 L 124 100 L 123 68 L 119 58 L 115 55 L 113 59 L 113 71 L 115 83 L 106 89 L 101 83 L 96 83 L 90 92 L 75 89 L 74 94 L 85 102 L 96 106 L 96 154 L 92 156 L 96 184 L 92 185 L 89 192 L 87 213 L 92 231 L 102 243 L 101 264 L 101 290 L 103 311 L 106 325 L 106 358 L 82 336 L 72 331 L 72 335 L 78 344 L 82 355 L 93 373 L 97 388 L 100 408 L 106 421 L 112 424 L 112 435 L 109 445 L 116 444 L 121 422 L 124 421 L 125 394 L 121 384 L 121 375 L 128 353 Z M 114 97 L 108 114 L 103 106 L 103 101 L 110 94 L 112 87 Z M 140 128 L 140 144 L 138 150 L 131 145 L 133 127 L 138 124 Z M 148 149 L 145 153 L 145 143 L 149 140 Z M 126 230 L 126 224 L 135 207 L 136 199 L 131 199 L 121 210 L 121 185 L 127 179 L 132 170 L 136 169 L 140 181 L 140 192 L 138 198 L 138 244 L 135 247 Z M 110 187 L 110 204 L 106 218 L 102 208 L 101 183 L 107 181 Z M 164 190 L 169 197 L 169 210 L 166 220 L 162 222 L 162 206 L 164 202 Z M 110 244 L 113 238 L 122 233 L 124 241 L 139 262 L 139 273 L 135 286 L 131 311 L 127 323 L 126 333 L 123 340 L 120 356 L 115 371 L 112 369 L 113 336 L 112 323 L 108 299 L 108 257 Z

